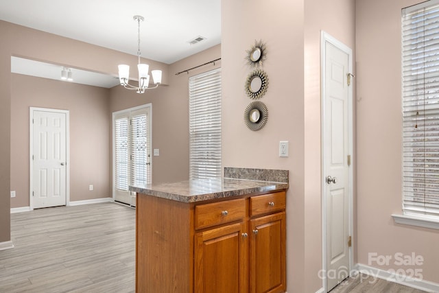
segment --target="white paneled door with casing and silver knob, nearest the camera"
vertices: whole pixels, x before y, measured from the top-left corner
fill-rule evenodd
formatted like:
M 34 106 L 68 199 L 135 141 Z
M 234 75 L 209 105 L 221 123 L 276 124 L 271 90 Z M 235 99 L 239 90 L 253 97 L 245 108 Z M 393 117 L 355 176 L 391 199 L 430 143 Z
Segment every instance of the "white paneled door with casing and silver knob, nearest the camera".
M 322 230 L 325 292 L 349 277 L 352 247 L 352 50 L 322 33 Z

